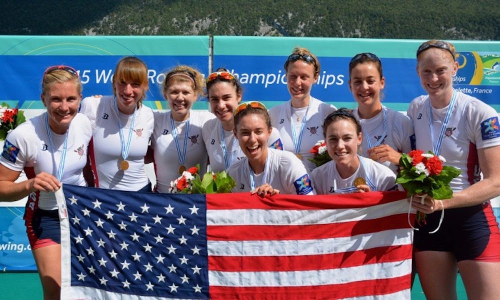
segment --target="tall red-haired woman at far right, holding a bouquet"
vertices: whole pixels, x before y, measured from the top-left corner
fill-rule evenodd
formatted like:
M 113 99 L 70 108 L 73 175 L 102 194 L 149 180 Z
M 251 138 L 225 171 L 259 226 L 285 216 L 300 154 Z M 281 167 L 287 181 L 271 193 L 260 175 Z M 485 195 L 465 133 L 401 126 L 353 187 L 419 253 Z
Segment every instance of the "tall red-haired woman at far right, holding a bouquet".
M 408 108 L 416 148 L 442 155 L 462 172 L 450 182 L 450 199 L 412 202 L 426 214 L 425 224 L 415 224 L 415 264 L 427 299 L 456 299 L 457 268 L 469 299 L 498 299 L 500 232 L 489 203 L 500 194 L 498 113 L 453 88 L 455 57 L 454 46 L 441 40 L 416 51 L 416 71 L 427 92 Z M 438 231 L 430 234 L 444 209 Z

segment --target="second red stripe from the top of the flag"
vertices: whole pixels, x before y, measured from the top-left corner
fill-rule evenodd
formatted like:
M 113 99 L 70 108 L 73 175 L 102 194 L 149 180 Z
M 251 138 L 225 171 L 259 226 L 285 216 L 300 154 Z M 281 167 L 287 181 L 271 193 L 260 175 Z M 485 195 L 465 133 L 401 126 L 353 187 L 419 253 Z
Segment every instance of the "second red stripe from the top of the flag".
M 210 225 L 208 240 L 298 240 L 352 236 L 407 227 L 407 214 L 377 219 L 309 225 Z

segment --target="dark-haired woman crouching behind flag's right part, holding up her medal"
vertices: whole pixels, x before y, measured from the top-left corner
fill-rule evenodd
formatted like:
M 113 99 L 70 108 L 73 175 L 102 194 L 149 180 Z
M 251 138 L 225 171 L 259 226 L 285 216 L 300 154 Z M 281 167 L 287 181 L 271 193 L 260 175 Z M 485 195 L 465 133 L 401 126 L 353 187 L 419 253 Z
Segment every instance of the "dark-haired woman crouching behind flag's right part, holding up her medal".
M 395 189 L 395 175 L 385 165 L 359 156 L 361 124 L 349 109 L 326 116 L 323 135 L 331 161 L 311 173 L 316 194 Z

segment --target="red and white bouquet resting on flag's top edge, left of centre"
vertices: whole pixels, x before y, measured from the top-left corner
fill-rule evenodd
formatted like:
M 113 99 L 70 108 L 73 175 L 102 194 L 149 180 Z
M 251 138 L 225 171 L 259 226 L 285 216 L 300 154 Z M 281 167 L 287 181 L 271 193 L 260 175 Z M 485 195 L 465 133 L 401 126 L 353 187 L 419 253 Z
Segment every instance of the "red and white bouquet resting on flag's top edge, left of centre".
M 199 164 L 183 171 L 175 180 L 170 182 L 171 193 L 224 193 L 231 192 L 236 185 L 234 179 L 225 171 L 206 172 L 199 175 Z

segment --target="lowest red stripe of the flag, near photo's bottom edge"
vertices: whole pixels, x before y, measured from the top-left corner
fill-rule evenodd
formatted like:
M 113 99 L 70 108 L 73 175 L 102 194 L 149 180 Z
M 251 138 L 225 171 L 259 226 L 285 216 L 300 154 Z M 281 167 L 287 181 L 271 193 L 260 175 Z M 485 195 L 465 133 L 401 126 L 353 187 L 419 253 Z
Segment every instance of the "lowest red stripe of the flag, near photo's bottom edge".
M 409 297 L 409 286 L 410 274 L 394 278 L 315 286 L 226 287 L 211 285 L 209 294 L 210 299 L 302 300 L 383 295 L 407 289 Z

